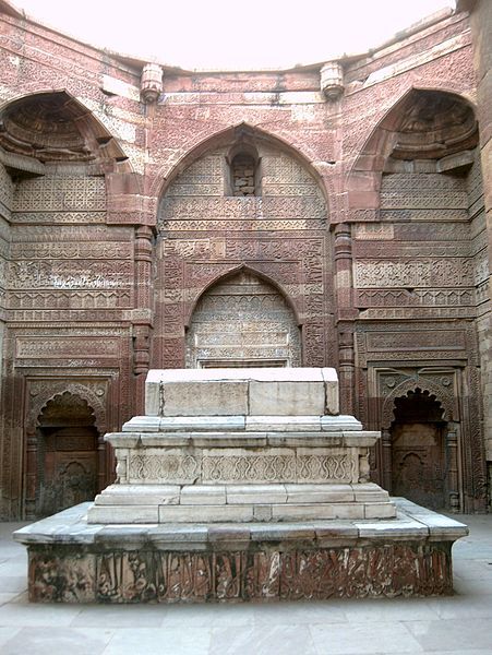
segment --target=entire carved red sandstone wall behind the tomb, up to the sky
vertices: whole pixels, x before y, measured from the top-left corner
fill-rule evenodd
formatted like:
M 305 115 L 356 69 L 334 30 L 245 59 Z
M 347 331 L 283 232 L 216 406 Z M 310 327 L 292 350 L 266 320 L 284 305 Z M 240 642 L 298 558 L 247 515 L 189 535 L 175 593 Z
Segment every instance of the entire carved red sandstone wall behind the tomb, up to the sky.
M 367 427 L 393 412 L 381 371 L 412 380 L 427 368 L 442 390 L 452 379 L 461 508 L 484 508 L 491 111 L 477 16 L 488 7 L 477 0 L 471 19 L 458 7 L 339 62 L 335 102 L 313 64 L 164 67 L 161 93 L 145 104 L 146 62 L 0 3 L 2 517 L 21 516 L 31 493 L 37 400 L 101 384 L 106 425 L 120 429 L 143 407 L 149 367 L 195 366 L 206 359 L 196 336 L 220 348 L 238 334 L 213 321 L 200 330 L 204 307 L 240 271 L 265 298 L 274 289 L 285 312 L 281 330 L 254 330 L 254 319 L 247 341 L 257 334 L 278 360 L 337 367 L 341 409 Z M 240 154 L 254 160 L 254 195 L 233 195 Z M 250 188 L 247 170 L 237 179 Z M 107 484 L 101 444 L 97 456 Z M 373 466 L 384 474 L 382 452 Z

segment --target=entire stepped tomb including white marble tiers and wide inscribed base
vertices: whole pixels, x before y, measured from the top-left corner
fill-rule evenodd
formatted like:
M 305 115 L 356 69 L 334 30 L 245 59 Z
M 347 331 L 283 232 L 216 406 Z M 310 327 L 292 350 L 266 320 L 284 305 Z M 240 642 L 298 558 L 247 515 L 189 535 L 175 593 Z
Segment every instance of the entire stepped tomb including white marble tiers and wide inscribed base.
M 151 371 L 106 439 L 117 483 L 15 533 L 37 602 L 452 592 L 465 525 L 369 481 L 380 433 L 338 413 L 334 369 Z

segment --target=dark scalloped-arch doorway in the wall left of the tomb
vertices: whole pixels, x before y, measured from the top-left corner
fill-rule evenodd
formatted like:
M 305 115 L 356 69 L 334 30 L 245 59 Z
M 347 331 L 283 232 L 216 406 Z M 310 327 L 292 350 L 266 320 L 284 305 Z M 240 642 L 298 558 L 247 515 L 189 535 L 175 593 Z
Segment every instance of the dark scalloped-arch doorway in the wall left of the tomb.
M 79 395 L 64 392 L 45 405 L 37 428 L 37 516 L 93 500 L 98 436 L 94 412 Z

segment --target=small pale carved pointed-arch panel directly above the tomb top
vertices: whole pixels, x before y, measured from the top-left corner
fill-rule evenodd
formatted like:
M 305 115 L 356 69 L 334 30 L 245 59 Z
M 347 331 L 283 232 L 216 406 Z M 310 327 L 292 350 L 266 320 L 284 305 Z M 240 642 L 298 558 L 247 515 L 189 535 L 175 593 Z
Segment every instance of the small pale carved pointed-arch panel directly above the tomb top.
M 286 298 L 248 270 L 223 277 L 199 299 L 187 332 L 187 367 L 292 367 L 300 331 Z

